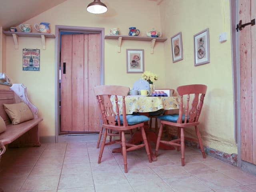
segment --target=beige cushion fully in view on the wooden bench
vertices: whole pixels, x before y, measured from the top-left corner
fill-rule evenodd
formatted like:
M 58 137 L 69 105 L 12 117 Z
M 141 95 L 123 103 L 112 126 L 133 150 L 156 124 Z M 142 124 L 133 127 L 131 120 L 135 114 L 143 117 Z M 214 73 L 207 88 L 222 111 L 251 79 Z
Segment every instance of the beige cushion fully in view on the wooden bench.
M 4 104 L 4 110 L 9 116 L 13 125 L 34 119 L 30 108 L 24 102 Z

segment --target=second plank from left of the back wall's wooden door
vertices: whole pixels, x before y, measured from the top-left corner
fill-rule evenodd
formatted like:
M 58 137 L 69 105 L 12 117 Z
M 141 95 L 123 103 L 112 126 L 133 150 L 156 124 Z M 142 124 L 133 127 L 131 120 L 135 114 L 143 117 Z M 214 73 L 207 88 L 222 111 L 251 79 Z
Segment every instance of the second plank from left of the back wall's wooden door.
M 72 36 L 72 131 L 84 131 L 84 35 Z

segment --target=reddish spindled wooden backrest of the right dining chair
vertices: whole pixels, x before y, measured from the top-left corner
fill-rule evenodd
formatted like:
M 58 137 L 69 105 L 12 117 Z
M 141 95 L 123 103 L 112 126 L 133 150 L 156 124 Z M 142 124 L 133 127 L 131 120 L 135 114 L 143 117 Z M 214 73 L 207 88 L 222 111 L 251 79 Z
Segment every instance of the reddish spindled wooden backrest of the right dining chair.
M 185 107 L 185 120 L 184 123 L 193 123 L 198 122 L 199 116 L 201 114 L 202 106 L 204 104 L 204 96 L 206 94 L 207 86 L 194 84 L 194 85 L 185 85 L 179 86 L 177 88 L 178 94 L 180 96 L 180 110 L 178 123 L 182 123 L 183 116 L 183 96 L 187 95 L 187 102 Z M 189 106 L 190 94 L 194 94 L 194 99 L 192 101 L 191 107 Z M 199 95 L 200 102 L 199 102 Z

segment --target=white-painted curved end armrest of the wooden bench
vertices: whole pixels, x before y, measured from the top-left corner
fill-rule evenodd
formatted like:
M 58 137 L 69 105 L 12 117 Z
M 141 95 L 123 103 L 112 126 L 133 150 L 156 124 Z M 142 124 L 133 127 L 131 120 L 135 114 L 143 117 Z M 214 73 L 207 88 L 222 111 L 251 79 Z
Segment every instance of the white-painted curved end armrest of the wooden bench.
M 34 106 L 34 104 L 32 104 L 30 102 L 30 100 L 28 99 L 27 87 L 24 86 L 24 84 L 12 84 L 10 89 L 13 90 L 13 92 L 14 92 L 15 102 L 16 103 L 19 103 L 19 102 L 26 103 L 28 105 L 28 107 L 30 108 L 30 110 L 32 111 L 34 118 L 37 119 L 38 118 L 38 115 L 37 115 L 38 108 L 36 106 Z

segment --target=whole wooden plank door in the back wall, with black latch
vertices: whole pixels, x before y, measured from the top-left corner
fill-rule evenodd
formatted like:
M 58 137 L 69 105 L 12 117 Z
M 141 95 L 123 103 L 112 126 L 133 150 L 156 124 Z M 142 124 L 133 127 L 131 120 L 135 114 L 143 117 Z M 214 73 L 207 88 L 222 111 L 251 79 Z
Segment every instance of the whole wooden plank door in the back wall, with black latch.
M 93 88 L 100 74 L 100 34 L 62 35 L 61 133 L 99 131 Z

